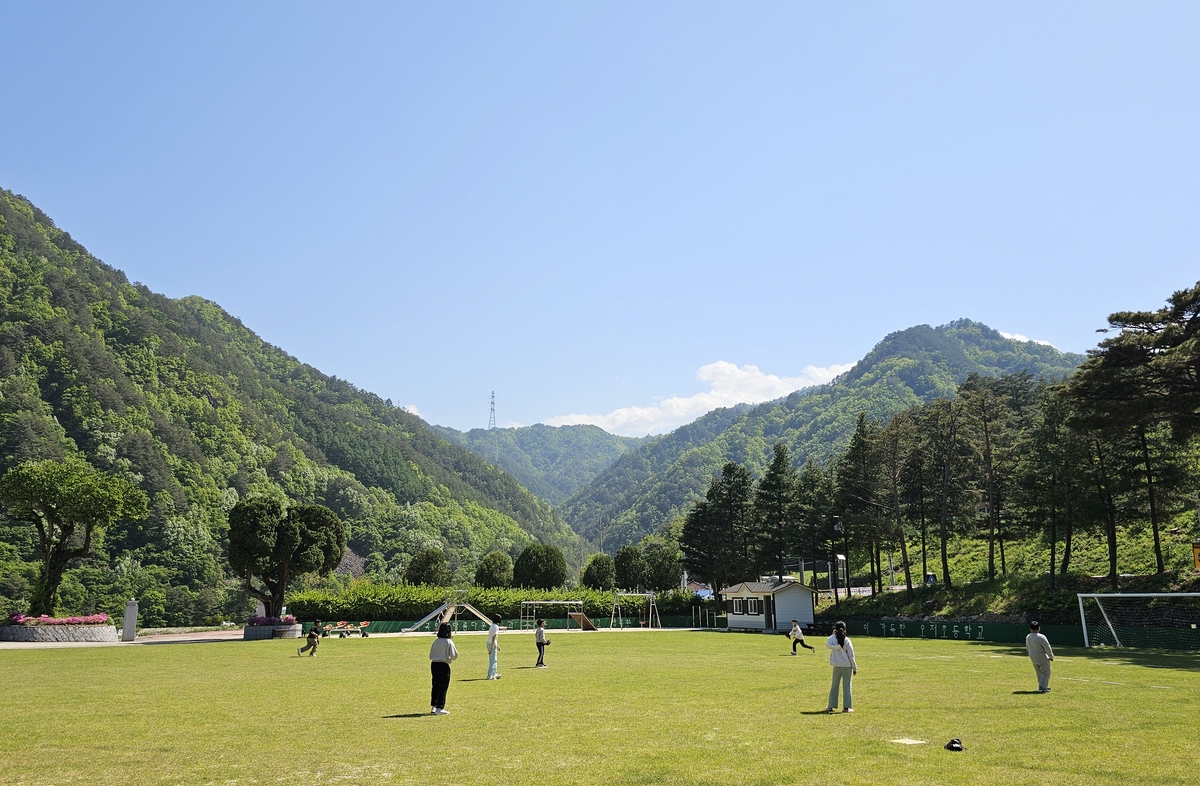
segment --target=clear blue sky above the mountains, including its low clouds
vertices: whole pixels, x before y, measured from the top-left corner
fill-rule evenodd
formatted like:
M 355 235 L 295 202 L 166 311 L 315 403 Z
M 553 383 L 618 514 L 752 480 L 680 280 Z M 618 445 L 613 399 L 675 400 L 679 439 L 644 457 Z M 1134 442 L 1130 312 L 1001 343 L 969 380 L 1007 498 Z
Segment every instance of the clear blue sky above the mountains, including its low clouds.
M 661 431 L 1200 278 L 1200 5 L 6 4 L 0 186 L 427 420 Z M 574 418 L 572 418 L 574 415 Z

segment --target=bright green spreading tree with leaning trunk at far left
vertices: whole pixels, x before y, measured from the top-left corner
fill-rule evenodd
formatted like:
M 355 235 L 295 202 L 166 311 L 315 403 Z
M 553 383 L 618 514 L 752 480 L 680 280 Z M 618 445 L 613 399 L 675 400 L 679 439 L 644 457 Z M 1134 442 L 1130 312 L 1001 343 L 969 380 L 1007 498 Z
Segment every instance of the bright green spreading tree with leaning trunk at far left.
M 0 479 L 0 504 L 8 518 L 36 533 L 42 565 L 29 601 L 31 617 L 54 614 L 62 572 L 72 559 L 91 556 L 104 529 L 120 518 L 148 515 L 140 488 L 78 457 L 13 467 Z

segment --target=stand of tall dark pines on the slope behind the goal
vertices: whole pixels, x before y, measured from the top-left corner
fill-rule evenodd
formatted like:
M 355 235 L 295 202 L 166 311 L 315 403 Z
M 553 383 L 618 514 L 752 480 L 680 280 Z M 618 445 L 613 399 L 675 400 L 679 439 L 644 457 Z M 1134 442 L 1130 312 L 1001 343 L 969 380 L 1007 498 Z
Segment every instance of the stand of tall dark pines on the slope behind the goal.
M 761 473 L 726 462 L 686 511 L 684 564 L 714 588 L 802 564 L 812 584 L 820 566 L 824 586 L 826 565 L 844 554 L 872 592 L 884 592 L 886 565 L 906 587 L 904 600 L 857 604 L 864 613 L 916 616 L 938 602 L 1002 613 L 1046 601 L 1030 592 L 1038 586 L 1094 592 L 1097 572 L 1110 592 L 1130 580 L 1194 586 L 1200 284 L 1109 322 L 1116 335 L 1063 380 L 972 373 L 950 395 L 883 418 L 859 413 L 828 461 L 797 467 L 778 442 Z M 938 592 L 914 593 L 926 574 Z M 946 594 L 978 581 L 1007 600 Z M 1060 606 L 1070 600 L 1058 595 Z

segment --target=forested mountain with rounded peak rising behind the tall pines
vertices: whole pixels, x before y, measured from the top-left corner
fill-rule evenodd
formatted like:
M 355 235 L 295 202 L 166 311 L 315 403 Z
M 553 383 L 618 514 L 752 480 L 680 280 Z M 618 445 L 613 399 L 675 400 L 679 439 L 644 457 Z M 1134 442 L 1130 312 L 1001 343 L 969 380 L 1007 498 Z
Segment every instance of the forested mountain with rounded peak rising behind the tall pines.
M 605 551 L 636 542 L 700 498 L 727 461 L 761 474 L 772 445 L 784 443 L 796 463 L 824 461 L 844 448 L 859 413 L 886 420 L 931 398 L 953 396 L 970 374 L 1069 374 L 1084 356 L 1046 344 L 1004 338 L 960 319 L 917 325 L 887 336 L 832 384 L 806 388 L 756 407 L 716 410 L 624 454 L 559 511 Z

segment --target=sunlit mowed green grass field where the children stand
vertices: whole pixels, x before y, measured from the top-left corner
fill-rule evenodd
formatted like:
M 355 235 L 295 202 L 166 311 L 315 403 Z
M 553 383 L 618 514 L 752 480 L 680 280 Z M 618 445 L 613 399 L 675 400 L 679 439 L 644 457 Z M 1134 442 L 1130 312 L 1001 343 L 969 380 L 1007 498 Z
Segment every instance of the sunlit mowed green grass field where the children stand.
M 1196 784 L 1200 658 L 858 637 L 853 714 L 781 636 L 456 636 L 0 652 L 0 784 Z M 814 642 L 818 647 L 821 641 Z M 950 737 L 966 751 L 946 751 Z M 914 738 L 925 745 L 889 740 Z

